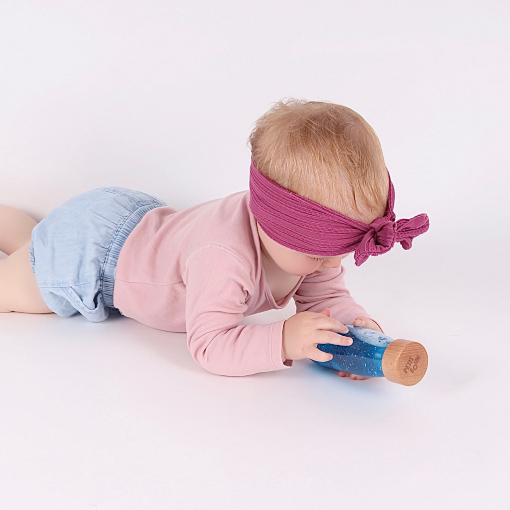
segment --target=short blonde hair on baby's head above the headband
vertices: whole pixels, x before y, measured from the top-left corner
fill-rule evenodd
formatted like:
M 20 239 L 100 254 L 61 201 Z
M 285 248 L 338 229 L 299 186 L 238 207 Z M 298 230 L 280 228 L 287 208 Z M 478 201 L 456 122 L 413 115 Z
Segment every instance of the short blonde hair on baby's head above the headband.
M 254 123 L 248 144 L 259 170 L 280 186 L 365 223 L 384 216 L 389 179 L 379 139 L 350 108 L 278 101 Z

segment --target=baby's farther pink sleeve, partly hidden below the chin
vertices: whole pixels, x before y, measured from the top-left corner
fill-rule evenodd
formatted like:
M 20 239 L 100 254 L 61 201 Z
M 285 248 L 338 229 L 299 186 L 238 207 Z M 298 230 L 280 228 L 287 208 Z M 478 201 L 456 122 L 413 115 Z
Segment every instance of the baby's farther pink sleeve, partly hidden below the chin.
M 350 295 L 344 282 L 345 268 L 330 268 L 320 274 L 304 278 L 294 300 L 297 312 L 322 312 L 331 310 L 331 317 L 343 324 L 352 324 L 358 316 L 371 319 L 365 309 Z

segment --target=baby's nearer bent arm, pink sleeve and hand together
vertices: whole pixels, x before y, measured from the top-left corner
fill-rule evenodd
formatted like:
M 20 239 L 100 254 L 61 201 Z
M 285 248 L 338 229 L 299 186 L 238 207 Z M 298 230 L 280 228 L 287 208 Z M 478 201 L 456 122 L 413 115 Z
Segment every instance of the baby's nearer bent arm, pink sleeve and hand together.
M 184 271 L 188 348 L 202 368 L 221 375 L 279 370 L 291 366 L 290 360 L 330 360 L 332 355 L 317 349 L 318 343 L 352 343 L 336 334 L 347 331 L 344 324 L 314 311 L 287 321 L 242 325 L 246 301 L 256 294 L 254 279 L 243 261 L 222 246 L 202 247 L 188 259 Z

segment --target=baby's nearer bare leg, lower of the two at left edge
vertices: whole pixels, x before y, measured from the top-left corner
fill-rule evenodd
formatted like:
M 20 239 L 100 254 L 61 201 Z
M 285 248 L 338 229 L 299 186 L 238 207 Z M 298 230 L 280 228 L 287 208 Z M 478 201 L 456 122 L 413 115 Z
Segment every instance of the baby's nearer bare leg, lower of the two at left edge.
M 7 259 L 0 260 L 0 312 L 52 313 L 41 297 L 32 272 L 29 246 L 30 241 Z

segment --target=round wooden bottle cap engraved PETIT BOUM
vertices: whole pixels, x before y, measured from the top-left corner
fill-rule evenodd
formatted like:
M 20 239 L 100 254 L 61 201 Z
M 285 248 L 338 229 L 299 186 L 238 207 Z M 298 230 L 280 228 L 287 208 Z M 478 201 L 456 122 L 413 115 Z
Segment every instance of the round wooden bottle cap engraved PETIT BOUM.
M 413 386 L 420 382 L 428 366 L 425 347 L 418 342 L 394 340 L 382 355 L 382 373 L 397 384 Z

